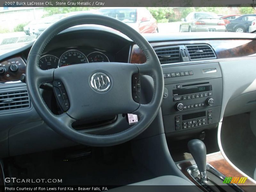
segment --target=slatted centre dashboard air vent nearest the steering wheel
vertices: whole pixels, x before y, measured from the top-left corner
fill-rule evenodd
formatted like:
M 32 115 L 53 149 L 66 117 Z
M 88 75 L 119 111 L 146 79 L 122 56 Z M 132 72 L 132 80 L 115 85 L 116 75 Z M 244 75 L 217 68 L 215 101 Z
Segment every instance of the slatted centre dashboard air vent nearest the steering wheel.
M 160 47 L 155 52 L 161 64 L 180 62 L 180 47 Z

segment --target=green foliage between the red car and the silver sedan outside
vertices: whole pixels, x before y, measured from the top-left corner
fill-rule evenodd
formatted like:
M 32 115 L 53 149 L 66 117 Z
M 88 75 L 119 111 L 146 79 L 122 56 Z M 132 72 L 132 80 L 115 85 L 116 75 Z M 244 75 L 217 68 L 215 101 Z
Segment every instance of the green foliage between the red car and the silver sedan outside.
M 148 7 L 148 11 L 158 23 L 168 22 L 173 13 L 172 7 Z

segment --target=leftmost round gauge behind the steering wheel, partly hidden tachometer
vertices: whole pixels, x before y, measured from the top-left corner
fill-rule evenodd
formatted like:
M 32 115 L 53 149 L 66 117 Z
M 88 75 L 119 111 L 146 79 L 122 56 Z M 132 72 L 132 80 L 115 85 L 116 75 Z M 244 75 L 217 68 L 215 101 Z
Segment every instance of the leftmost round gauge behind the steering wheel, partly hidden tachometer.
M 59 58 L 53 55 L 44 55 L 39 59 L 39 67 L 42 70 L 52 69 L 58 67 Z

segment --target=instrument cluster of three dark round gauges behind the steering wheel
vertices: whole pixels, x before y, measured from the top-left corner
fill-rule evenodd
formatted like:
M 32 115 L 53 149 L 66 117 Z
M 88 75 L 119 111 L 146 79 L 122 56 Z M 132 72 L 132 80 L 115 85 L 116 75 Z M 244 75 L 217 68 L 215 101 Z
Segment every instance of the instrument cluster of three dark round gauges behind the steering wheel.
M 93 62 L 109 62 L 109 59 L 104 53 L 99 51 L 90 52 L 87 54 L 87 56 L 85 56 L 85 54 L 81 51 L 70 49 L 66 52 L 63 52 L 60 55 L 60 58 L 51 54 L 43 55 L 39 59 L 39 67 L 42 70 L 47 70 L 68 65 Z

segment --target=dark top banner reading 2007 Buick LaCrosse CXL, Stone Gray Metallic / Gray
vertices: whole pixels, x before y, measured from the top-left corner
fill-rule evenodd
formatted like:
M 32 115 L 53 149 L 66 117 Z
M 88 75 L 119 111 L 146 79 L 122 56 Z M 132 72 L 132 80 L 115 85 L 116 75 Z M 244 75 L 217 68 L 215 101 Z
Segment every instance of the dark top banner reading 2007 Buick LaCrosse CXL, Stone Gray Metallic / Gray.
M 0 0 L 0 7 L 254 7 L 256 0 Z

